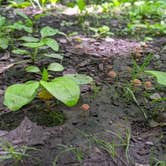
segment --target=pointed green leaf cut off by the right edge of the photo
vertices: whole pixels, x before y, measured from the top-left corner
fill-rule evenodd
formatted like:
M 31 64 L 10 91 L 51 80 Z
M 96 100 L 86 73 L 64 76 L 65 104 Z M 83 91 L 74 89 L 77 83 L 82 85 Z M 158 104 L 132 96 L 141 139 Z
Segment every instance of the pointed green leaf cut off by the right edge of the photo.
M 155 70 L 147 70 L 145 72 L 155 76 L 159 84 L 166 86 L 166 72 Z

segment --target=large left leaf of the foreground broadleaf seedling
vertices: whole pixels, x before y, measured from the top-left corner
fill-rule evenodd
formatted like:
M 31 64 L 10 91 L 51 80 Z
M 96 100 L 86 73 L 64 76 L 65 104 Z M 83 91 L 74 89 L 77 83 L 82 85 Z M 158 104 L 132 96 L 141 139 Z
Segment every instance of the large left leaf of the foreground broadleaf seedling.
M 4 105 L 12 111 L 19 110 L 35 98 L 38 87 L 37 81 L 9 86 L 5 91 Z

